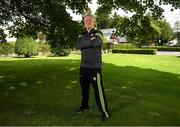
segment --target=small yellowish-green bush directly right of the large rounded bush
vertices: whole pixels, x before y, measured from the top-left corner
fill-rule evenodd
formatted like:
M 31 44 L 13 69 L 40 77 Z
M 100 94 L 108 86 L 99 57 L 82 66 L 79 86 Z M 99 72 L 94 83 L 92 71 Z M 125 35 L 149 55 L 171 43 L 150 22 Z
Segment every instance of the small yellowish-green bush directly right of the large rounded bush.
M 50 45 L 39 42 L 39 52 L 42 53 L 43 55 L 49 54 L 51 52 Z

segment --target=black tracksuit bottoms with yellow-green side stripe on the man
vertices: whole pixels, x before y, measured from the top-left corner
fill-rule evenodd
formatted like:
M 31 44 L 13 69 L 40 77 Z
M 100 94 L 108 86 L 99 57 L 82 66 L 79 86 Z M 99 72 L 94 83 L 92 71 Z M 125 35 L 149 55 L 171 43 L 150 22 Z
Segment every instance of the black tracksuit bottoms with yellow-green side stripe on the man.
M 101 68 L 80 68 L 80 85 L 82 90 L 81 108 L 83 109 L 89 108 L 90 84 L 93 86 L 99 111 L 108 117 L 108 107 L 102 82 Z

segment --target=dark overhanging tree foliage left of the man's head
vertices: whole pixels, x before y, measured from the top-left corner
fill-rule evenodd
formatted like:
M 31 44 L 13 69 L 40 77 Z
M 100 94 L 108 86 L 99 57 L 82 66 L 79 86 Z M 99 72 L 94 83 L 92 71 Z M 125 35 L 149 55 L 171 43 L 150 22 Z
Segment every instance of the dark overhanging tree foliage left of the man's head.
M 2 7 L 0 14 L 3 14 L 0 25 L 13 22 L 9 29 L 10 33 L 17 38 L 27 35 L 36 37 L 37 33 L 42 31 L 47 35 L 52 47 L 58 44 L 72 47 L 81 32 L 81 26 L 71 19 L 66 11 L 66 5 L 78 12 L 83 12 L 85 8 L 83 6 L 87 3 L 75 0 L 2 0 L 0 5 Z

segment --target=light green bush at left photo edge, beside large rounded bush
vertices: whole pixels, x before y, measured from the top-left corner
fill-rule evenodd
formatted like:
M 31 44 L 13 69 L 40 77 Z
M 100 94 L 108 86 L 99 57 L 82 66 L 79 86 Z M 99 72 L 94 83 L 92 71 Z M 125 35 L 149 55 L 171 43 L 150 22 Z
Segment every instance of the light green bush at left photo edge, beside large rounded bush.
M 14 53 L 13 43 L 2 43 L 0 44 L 0 55 L 8 55 Z

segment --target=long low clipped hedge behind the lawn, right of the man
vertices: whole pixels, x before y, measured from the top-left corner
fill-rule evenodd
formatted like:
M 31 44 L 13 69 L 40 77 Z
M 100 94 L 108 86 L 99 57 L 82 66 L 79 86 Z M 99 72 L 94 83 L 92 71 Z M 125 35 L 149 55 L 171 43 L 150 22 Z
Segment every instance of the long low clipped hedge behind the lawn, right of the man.
M 151 54 L 155 55 L 156 49 L 113 49 L 112 53 L 126 53 L 126 54 Z

